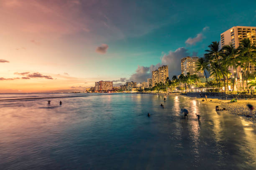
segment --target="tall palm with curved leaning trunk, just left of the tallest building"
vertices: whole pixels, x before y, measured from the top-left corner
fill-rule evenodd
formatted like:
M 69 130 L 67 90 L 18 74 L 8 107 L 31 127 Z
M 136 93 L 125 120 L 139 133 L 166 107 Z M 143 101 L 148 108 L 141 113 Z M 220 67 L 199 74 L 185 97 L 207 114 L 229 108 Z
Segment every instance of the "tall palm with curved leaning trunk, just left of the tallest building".
M 224 71 L 223 71 L 223 68 L 220 63 L 221 50 L 219 50 L 219 45 L 220 45 L 220 42 L 217 42 L 217 41 L 214 41 L 214 42 L 212 42 L 212 44 L 208 45 L 209 50 L 205 50 L 206 52 L 208 52 L 205 54 L 205 58 L 208 61 L 212 61 L 212 60 L 217 61 L 218 66 L 219 66 L 221 73 L 223 75 L 223 78 L 224 78 L 224 90 L 226 91 L 225 75 L 224 75 Z

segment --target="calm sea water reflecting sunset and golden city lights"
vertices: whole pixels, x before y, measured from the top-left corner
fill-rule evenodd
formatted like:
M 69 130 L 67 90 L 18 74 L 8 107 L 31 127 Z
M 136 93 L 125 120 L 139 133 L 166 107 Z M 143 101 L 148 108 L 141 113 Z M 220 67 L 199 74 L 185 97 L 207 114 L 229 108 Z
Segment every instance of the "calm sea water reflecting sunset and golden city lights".
M 1 170 L 256 169 L 255 124 L 192 98 L 97 94 L 52 98 L 50 105 L 47 100 L 0 101 Z M 182 107 L 188 119 L 180 115 Z

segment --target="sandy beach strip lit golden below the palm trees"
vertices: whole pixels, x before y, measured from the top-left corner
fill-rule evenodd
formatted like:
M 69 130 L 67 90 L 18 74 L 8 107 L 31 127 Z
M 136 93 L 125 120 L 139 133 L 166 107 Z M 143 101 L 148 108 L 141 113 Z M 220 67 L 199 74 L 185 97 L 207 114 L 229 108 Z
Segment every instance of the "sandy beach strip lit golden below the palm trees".
M 245 118 L 246 120 L 250 120 L 252 122 L 256 122 L 256 110 L 253 110 L 253 116 L 252 117 L 246 117 L 246 115 L 250 114 L 250 110 L 247 106 L 247 104 L 251 104 L 253 106 L 256 106 L 256 100 L 245 100 L 245 99 L 238 99 L 237 102 L 230 102 L 230 100 L 219 100 L 218 98 L 207 97 L 207 101 L 202 101 L 202 99 L 205 99 L 204 97 L 192 97 L 192 96 L 186 96 L 190 98 L 195 98 L 197 101 L 199 101 L 201 104 L 205 105 L 215 105 L 219 106 L 220 108 L 225 108 L 226 112 L 232 115 L 237 115 L 240 117 Z M 224 111 L 224 110 L 223 110 Z M 222 110 L 218 111 L 222 112 Z

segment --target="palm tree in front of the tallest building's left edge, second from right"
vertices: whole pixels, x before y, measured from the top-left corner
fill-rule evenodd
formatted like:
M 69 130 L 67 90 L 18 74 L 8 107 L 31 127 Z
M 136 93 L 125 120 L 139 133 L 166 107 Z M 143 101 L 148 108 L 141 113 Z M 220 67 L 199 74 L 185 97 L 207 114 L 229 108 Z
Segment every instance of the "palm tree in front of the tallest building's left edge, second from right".
M 234 77 L 237 77 L 237 67 L 239 65 L 238 61 L 238 49 L 234 48 L 231 44 L 230 45 L 225 45 L 223 48 L 223 55 L 224 57 L 224 62 L 228 66 L 232 66 L 234 70 Z M 234 91 L 234 85 L 235 85 L 235 79 L 233 78 L 233 91 Z

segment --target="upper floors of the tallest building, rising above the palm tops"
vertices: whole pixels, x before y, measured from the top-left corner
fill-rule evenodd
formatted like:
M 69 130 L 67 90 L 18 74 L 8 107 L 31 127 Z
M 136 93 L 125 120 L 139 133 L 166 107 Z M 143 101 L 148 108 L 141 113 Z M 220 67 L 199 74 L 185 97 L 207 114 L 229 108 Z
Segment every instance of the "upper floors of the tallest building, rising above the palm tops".
M 252 43 L 256 43 L 256 27 L 232 27 L 220 34 L 221 47 L 229 45 L 237 48 L 244 38 L 249 38 Z

